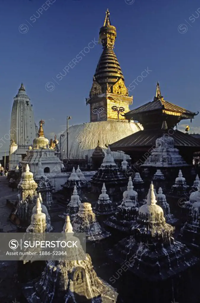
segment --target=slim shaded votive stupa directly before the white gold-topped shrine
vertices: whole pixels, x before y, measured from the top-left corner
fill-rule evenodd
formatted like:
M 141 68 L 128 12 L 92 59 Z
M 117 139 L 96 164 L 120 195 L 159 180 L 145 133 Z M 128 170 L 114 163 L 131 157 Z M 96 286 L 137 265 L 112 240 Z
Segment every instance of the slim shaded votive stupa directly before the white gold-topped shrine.
M 54 187 L 49 181 L 49 178 L 44 174 L 40 159 L 38 160 L 38 169 L 37 173 L 34 175 L 34 179 L 38 185 L 37 192 L 41 193 L 44 205 L 50 209 L 53 204 L 52 192 Z

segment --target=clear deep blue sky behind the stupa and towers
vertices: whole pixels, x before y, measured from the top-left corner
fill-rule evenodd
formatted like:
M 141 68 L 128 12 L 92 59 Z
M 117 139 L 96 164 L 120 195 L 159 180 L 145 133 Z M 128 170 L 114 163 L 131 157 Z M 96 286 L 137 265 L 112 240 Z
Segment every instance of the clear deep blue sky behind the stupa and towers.
M 200 111 L 199 1 L 49 1 L 48 7 L 43 0 L 1 0 L 1 138 L 10 129 L 13 97 L 21 82 L 31 98 L 36 123 L 45 120 L 46 137 L 64 131 L 67 115 L 72 116 L 71 124 L 89 122 L 85 98 L 102 46 L 97 43 L 83 52 L 83 58 L 61 81 L 56 75 L 90 42 L 98 40 L 107 8 L 117 28 L 114 51 L 126 86 L 147 67 L 152 71 L 131 92 L 131 109 L 152 100 L 159 81 L 165 100 Z M 47 82 L 54 83 L 53 91 L 46 90 Z M 192 131 L 199 131 L 199 117 L 192 122 Z M 183 124 L 190 125 L 190 121 Z M 1 149 L 8 146 L 6 141 Z

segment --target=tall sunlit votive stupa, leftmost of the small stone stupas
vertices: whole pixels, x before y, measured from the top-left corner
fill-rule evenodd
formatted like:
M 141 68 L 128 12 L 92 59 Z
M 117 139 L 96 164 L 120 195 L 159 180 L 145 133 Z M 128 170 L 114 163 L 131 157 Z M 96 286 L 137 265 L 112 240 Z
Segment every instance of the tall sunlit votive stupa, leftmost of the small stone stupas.
M 19 194 L 17 195 L 16 210 L 9 216 L 11 221 L 19 219 L 19 228 L 27 228 L 31 222 L 32 208 L 37 198 L 37 183 L 33 179 L 33 173 L 26 164 L 18 184 Z

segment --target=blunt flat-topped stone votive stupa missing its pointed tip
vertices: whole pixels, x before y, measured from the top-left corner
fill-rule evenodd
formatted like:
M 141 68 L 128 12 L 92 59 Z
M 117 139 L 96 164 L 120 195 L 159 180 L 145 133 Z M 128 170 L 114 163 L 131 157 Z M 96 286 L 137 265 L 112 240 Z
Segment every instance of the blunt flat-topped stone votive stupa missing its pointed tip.
M 86 233 L 86 242 L 100 241 L 110 236 L 110 232 L 100 226 L 90 203 L 80 204 L 72 225 L 75 232 Z

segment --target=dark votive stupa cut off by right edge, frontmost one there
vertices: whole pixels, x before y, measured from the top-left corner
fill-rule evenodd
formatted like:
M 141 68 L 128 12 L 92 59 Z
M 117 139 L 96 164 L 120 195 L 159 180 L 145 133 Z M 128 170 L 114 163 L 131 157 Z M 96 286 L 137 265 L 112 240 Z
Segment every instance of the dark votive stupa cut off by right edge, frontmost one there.
M 190 208 L 188 221 L 181 228 L 181 240 L 186 245 L 200 249 L 200 199 Z

